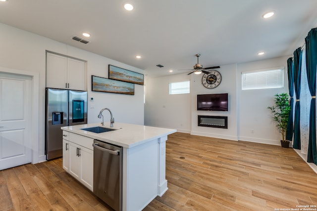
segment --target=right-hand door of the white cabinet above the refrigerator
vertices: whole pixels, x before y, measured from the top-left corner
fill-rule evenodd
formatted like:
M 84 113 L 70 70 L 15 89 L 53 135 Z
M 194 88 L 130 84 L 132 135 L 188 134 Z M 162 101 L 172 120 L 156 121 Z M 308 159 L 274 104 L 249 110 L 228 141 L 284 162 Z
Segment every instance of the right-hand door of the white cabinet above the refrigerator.
M 85 62 L 67 59 L 67 85 L 69 89 L 86 90 Z

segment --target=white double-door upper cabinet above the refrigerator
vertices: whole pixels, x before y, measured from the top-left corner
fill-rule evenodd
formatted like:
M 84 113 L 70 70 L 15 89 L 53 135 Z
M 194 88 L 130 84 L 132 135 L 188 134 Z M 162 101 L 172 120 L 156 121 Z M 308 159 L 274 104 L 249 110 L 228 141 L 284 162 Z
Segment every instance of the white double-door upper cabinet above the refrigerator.
M 46 55 L 46 87 L 86 90 L 84 61 L 53 53 Z

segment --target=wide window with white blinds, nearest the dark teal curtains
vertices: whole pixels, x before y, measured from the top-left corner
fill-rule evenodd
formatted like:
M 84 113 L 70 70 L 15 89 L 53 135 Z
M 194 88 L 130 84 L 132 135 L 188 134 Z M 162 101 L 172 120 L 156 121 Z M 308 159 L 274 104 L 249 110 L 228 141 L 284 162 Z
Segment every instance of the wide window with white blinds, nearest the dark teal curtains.
M 242 90 L 284 87 L 284 68 L 242 72 Z

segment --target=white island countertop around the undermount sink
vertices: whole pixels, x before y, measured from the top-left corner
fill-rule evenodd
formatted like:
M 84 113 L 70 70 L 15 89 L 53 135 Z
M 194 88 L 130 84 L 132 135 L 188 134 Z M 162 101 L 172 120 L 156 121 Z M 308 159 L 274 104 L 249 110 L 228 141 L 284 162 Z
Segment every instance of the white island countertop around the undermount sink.
M 95 133 L 82 130 L 81 128 L 88 127 L 106 127 L 115 129 L 108 132 Z M 110 123 L 106 122 L 105 126 L 101 126 L 100 123 L 85 124 L 77 126 L 61 127 L 62 130 L 73 132 L 78 135 L 83 135 L 93 139 L 105 141 L 107 143 L 115 144 L 118 146 L 132 148 L 155 138 L 169 135 L 176 132 L 176 129 L 162 128 L 162 127 L 150 127 L 142 125 L 133 125 L 127 123 L 114 123 L 113 127 L 109 127 Z

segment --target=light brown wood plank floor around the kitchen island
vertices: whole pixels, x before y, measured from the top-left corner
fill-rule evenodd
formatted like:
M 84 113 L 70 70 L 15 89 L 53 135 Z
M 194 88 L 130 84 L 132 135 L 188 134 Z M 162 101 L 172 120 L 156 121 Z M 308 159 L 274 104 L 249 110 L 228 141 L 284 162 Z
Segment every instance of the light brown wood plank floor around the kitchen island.
M 274 211 L 317 205 L 317 174 L 280 146 L 174 133 L 168 191 L 144 211 Z M 1 211 L 109 211 L 62 169 L 62 160 L 0 171 Z

